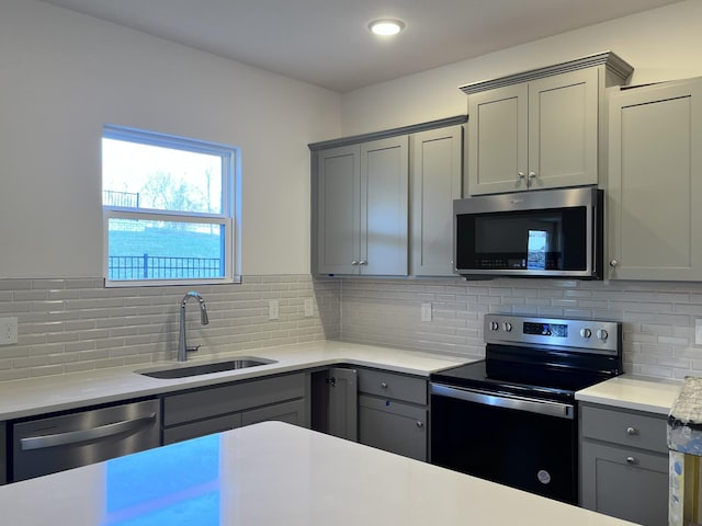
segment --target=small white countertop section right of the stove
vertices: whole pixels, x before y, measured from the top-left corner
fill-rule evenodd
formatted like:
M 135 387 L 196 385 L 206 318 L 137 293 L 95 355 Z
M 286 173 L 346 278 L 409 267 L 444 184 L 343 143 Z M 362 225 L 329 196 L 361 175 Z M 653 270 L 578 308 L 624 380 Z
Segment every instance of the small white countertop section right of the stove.
M 576 392 L 581 402 L 668 414 L 681 381 L 622 375 Z

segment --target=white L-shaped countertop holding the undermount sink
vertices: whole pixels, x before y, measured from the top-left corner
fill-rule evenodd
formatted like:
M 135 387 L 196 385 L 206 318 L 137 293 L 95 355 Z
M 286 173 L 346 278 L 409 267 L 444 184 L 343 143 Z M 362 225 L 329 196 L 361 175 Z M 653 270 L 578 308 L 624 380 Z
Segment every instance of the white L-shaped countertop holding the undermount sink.
M 190 366 L 236 356 L 257 356 L 276 363 L 179 379 L 156 379 L 135 373 L 179 366 L 176 362 L 163 362 L 3 381 L 0 382 L 0 421 L 340 363 L 429 376 L 434 370 L 472 362 L 468 357 L 325 340 L 208 356 L 207 359 L 194 358 L 180 365 Z

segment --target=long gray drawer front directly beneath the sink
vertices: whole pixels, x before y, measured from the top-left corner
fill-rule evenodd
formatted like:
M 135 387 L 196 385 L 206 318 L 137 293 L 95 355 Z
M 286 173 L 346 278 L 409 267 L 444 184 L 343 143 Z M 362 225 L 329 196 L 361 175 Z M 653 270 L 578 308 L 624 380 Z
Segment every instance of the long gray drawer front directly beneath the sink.
M 278 376 L 169 395 L 163 398 L 163 426 L 210 419 L 304 396 L 304 375 Z

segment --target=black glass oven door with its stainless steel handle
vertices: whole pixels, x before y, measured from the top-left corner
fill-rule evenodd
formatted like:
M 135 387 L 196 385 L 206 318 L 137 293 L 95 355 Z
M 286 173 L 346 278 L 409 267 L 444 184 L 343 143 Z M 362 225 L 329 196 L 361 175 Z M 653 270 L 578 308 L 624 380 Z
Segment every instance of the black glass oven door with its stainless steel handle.
M 430 460 L 577 504 L 575 405 L 432 384 Z

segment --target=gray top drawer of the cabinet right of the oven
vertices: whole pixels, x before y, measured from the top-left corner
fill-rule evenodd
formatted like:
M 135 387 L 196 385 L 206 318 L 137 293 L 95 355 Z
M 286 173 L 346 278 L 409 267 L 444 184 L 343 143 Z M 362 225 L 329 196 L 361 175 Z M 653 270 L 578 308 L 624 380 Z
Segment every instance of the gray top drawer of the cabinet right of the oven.
M 584 405 L 580 419 L 584 437 L 668 453 L 664 416 Z

